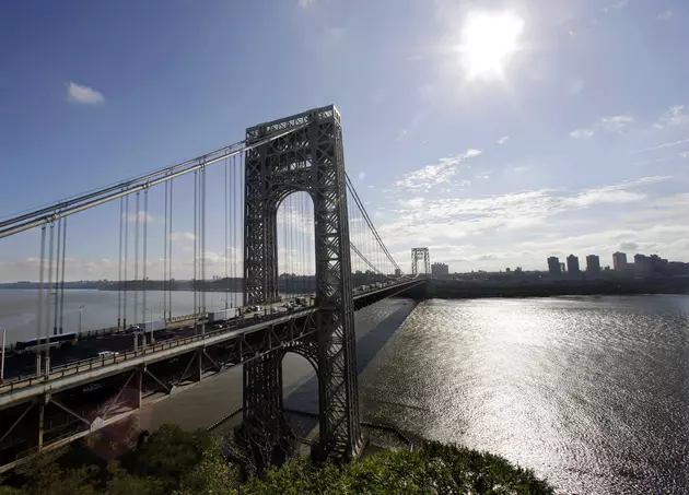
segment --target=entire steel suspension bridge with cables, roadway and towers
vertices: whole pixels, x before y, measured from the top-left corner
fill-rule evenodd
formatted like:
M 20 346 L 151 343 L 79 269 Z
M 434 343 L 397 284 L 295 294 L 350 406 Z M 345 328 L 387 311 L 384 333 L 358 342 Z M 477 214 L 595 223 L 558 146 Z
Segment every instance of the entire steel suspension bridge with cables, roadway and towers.
M 105 288 L 117 293 L 117 321 L 79 333 L 66 325 L 65 282 L 93 237 L 113 270 Z M 4 356 L 0 470 L 238 365 L 248 441 L 256 425 L 265 441 L 270 425 L 277 443 L 288 352 L 318 378 L 316 453 L 355 457 L 364 439 L 354 311 L 397 294 L 422 296 L 418 262 L 427 273 L 429 266 L 428 249 L 414 249 L 405 275 L 386 248 L 346 173 L 334 106 L 2 220 L 0 239 L 34 243 L 38 260 L 35 338 Z M 173 304 L 180 288 L 192 293 L 185 315 Z M 224 304 L 209 305 L 209 294 Z

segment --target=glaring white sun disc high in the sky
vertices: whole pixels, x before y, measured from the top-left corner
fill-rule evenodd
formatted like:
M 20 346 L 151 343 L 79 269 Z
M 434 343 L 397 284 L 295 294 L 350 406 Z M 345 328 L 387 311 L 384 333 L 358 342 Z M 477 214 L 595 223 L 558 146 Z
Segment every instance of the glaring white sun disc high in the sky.
M 519 50 L 524 20 L 514 12 L 469 13 L 462 30 L 459 54 L 467 79 L 504 76 L 504 66 Z

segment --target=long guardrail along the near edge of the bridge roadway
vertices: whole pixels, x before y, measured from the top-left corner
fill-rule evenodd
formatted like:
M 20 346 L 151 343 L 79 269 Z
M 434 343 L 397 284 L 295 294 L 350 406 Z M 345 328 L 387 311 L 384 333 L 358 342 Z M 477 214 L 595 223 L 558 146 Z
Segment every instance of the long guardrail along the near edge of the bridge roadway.
M 382 292 L 384 290 L 387 288 L 394 288 L 396 285 L 401 285 L 401 284 L 395 284 L 395 285 L 387 285 L 387 286 L 383 286 L 383 287 L 376 287 L 374 290 L 364 292 L 364 293 L 359 293 L 355 294 L 355 297 L 359 296 L 364 296 L 364 295 L 369 295 L 375 292 Z M 291 313 L 290 317 L 292 318 L 297 318 L 300 317 L 300 315 L 304 311 L 307 310 L 313 310 L 314 306 L 310 306 L 307 308 L 302 309 L 301 311 L 295 311 L 295 313 Z M 191 317 L 194 315 L 190 315 Z M 255 322 L 255 320 L 253 318 L 244 318 L 243 320 L 241 320 L 243 323 L 254 323 L 254 325 L 260 325 L 260 323 L 270 323 L 270 321 L 272 320 L 277 320 L 279 318 L 284 317 L 283 314 L 278 314 L 272 318 L 268 318 L 268 319 L 262 319 L 259 322 Z M 234 320 L 235 323 L 238 323 L 240 320 Z M 112 354 L 112 355 L 103 355 L 103 356 L 94 356 L 94 357 L 90 357 L 90 358 L 85 358 L 85 360 L 80 360 L 78 362 L 72 362 L 72 363 L 67 363 L 65 365 L 60 365 L 60 366 L 56 366 L 54 368 L 50 369 L 50 373 L 46 376 L 46 375 L 32 375 L 32 376 L 20 376 L 20 377 L 14 377 L 14 378 L 10 378 L 10 379 L 5 379 L 4 382 L 2 385 L 0 385 L 0 394 L 2 393 L 11 393 L 14 390 L 19 389 L 19 388 L 24 388 L 24 387 L 31 387 L 32 385 L 36 385 L 36 384 L 42 384 L 45 381 L 49 381 L 52 378 L 61 378 L 68 375 L 73 375 L 73 374 L 79 374 L 80 372 L 86 372 L 86 370 L 92 370 L 102 366 L 105 366 L 106 364 L 116 364 L 116 363 L 121 363 L 128 360 L 132 360 L 139 356 L 144 356 L 144 355 L 149 355 L 149 354 L 155 354 L 156 352 L 160 351 L 165 351 L 167 349 L 172 349 L 172 347 L 176 347 L 179 345 L 185 345 L 191 342 L 196 342 L 196 341 L 200 341 L 200 340 L 205 340 L 211 337 L 215 337 L 215 335 L 220 335 L 222 333 L 227 333 L 230 331 L 236 331 L 240 330 L 242 328 L 245 327 L 252 327 L 252 325 L 234 325 L 232 326 L 230 323 L 230 326 L 218 329 L 218 330 L 212 330 L 212 331 L 207 331 L 205 332 L 205 334 L 202 335 L 190 335 L 190 337 L 185 337 L 182 339 L 172 339 L 172 340 L 166 340 L 166 341 L 162 341 L 162 342 L 155 342 L 153 344 L 149 344 L 149 346 L 147 346 L 145 349 L 139 349 L 137 351 L 135 350 L 130 350 L 130 351 L 124 351 L 119 354 Z

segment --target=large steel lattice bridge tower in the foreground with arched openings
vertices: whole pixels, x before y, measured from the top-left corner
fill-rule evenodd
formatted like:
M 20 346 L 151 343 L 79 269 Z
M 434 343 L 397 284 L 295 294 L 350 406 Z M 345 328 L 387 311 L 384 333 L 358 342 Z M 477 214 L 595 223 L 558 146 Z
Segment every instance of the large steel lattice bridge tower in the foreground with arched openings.
M 244 304 L 278 298 L 278 207 L 289 195 L 314 203 L 315 332 L 297 345 L 244 364 L 245 432 L 282 421 L 282 357 L 304 355 L 318 377 L 320 458 L 348 460 L 362 447 L 357 386 L 354 304 L 340 115 L 330 105 L 246 130 L 247 144 L 292 132 L 246 154 Z M 279 432 L 275 432 L 278 436 Z

